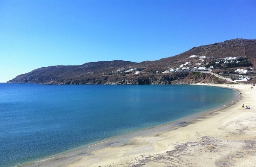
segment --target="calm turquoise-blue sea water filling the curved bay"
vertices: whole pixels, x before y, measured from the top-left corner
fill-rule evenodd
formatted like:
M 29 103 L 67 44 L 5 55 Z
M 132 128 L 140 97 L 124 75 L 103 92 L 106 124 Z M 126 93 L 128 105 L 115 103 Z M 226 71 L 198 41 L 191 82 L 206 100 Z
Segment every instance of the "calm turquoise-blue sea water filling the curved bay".
M 0 83 L 0 167 L 172 122 L 232 96 L 198 85 Z

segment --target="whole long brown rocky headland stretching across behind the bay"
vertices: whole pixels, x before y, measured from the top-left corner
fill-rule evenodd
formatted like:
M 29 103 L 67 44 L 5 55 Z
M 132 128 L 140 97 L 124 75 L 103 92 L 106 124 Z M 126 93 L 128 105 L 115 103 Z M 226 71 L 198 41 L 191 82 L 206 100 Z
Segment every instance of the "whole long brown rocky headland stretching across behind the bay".
M 19 75 L 8 83 L 44 83 L 44 84 L 189 84 L 189 83 L 225 83 L 209 73 L 176 72 L 164 74 L 169 68 L 191 61 L 190 68 L 202 58 L 189 58 L 191 55 L 206 56 L 202 66 L 216 58 L 238 57 L 246 59 L 246 67 L 256 66 L 256 39 L 232 39 L 221 43 L 191 48 L 179 55 L 156 61 L 141 63 L 128 61 L 89 62 L 82 65 L 49 66 Z M 220 67 L 221 68 L 221 67 Z M 230 71 L 223 67 L 221 71 Z M 236 67 L 236 68 L 239 68 Z M 135 71 L 140 71 L 135 74 Z M 214 71 L 220 71 L 216 68 Z

